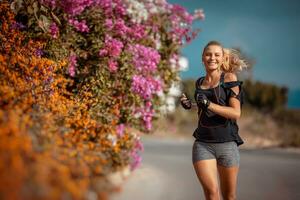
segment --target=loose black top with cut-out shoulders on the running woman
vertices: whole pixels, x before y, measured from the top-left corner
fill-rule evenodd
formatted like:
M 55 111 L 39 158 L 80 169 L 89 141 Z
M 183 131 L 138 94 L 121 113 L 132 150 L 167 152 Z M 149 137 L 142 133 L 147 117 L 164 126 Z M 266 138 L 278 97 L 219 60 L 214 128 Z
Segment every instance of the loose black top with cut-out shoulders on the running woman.
M 229 98 L 235 97 L 240 100 L 241 105 L 243 103 L 243 91 L 242 82 L 224 82 L 225 73 L 221 74 L 220 82 L 217 87 L 202 89 L 200 85 L 202 84 L 204 77 L 199 78 L 195 84 L 195 100 L 199 93 L 204 93 L 207 98 L 216 104 L 222 106 L 229 105 Z M 231 88 L 239 86 L 239 94 L 236 95 Z M 210 110 L 202 110 L 198 107 L 198 127 L 194 131 L 193 136 L 196 140 L 202 142 L 229 142 L 235 141 L 237 145 L 243 144 L 243 140 L 238 134 L 239 127 L 235 120 L 227 119 L 221 115 L 218 115 Z

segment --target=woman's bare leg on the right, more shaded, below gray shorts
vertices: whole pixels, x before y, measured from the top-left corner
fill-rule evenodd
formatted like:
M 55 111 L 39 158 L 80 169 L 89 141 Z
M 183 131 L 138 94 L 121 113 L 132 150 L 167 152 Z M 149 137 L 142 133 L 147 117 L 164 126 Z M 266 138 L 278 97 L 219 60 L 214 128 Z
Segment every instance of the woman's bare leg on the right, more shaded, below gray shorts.
M 224 200 L 236 200 L 238 166 L 224 167 L 218 165 L 220 185 Z

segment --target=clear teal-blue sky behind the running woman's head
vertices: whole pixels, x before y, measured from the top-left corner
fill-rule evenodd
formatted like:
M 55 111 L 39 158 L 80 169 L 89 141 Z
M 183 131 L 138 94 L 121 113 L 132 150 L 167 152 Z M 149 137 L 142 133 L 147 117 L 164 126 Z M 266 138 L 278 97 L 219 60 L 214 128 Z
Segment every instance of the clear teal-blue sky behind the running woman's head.
M 253 78 L 300 90 L 299 0 L 168 0 L 189 12 L 202 8 L 205 20 L 194 24 L 201 32 L 182 53 L 189 70 L 182 78 L 204 74 L 201 52 L 210 40 L 240 47 L 254 58 Z

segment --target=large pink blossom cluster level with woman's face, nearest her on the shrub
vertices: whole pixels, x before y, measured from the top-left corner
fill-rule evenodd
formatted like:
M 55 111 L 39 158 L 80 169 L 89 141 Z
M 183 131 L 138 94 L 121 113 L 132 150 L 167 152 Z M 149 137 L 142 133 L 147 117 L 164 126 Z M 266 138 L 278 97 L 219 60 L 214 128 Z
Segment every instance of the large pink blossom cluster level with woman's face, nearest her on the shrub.
M 157 50 L 140 44 L 129 46 L 128 50 L 133 54 L 133 65 L 144 74 L 154 72 L 160 61 Z

